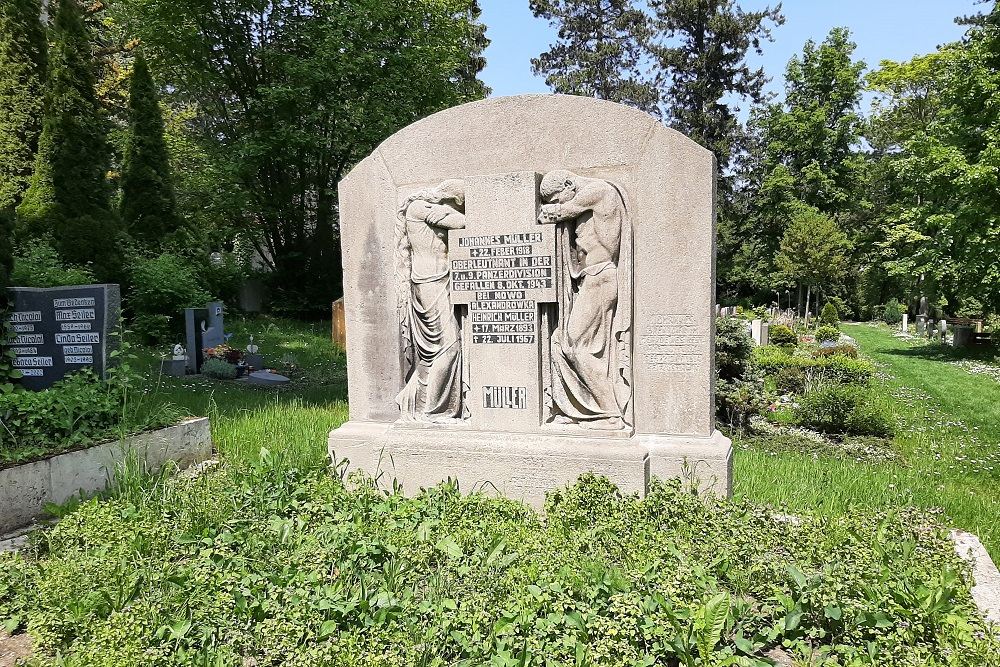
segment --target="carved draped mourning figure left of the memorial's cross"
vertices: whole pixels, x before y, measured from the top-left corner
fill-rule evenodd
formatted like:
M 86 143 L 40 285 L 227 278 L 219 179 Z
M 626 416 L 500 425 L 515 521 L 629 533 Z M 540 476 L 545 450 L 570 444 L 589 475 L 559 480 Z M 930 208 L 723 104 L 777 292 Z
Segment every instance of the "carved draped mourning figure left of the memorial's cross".
M 396 396 L 404 419 L 465 417 L 461 329 L 451 303 L 448 230 L 465 227 L 465 183 L 421 190 L 397 212 L 396 278 L 408 366 Z

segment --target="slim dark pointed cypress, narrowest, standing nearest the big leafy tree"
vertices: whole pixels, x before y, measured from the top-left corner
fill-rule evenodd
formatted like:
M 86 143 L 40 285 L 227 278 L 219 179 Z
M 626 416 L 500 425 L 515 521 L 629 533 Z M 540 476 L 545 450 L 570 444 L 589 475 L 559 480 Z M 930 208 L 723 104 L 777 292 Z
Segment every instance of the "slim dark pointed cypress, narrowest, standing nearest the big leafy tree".
M 146 59 L 135 58 L 129 83 L 128 135 L 122 161 L 121 217 L 132 238 L 157 248 L 178 227 L 163 137 L 163 115 Z

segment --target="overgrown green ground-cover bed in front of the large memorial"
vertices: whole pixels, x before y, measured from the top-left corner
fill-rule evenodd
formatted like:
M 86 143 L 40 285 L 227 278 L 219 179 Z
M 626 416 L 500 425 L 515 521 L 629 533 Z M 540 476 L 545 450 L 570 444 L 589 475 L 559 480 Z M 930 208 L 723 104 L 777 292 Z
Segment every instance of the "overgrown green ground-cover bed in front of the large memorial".
M 788 522 L 590 476 L 545 509 L 267 451 L 124 478 L 0 555 L 0 618 L 60 665 L 1000 664 L 933 517 Z

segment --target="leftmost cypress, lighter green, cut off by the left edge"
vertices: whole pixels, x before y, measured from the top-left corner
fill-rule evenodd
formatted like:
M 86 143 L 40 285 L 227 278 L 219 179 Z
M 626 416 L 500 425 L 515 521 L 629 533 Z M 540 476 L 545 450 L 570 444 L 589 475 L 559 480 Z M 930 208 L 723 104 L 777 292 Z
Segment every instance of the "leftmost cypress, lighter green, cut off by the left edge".
M 39 0 L 0 2 L 0 210 L 28 187 L 41 131 L 45 28 Z

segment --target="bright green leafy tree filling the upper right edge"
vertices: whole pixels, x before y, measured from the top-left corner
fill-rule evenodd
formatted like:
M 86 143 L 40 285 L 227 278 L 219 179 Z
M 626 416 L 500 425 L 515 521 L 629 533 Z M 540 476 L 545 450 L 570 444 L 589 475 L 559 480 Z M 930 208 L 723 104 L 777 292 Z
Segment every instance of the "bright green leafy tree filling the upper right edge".
M 886 99 L 877 109 L 876 129 L 882 135 L 889 134 L 887 126 L 913 129 L 893 136 L 884 157 L 895 178 L 881 218 L 883 267 L 910 293 L 937 296 L 953 312 L 963 302 L 1000 312 L 1000 26 L 990 19 L 995 15 L 994 8 L 970 22 L 962 42 L 906 63 L 883 63 L 873 77 Z

